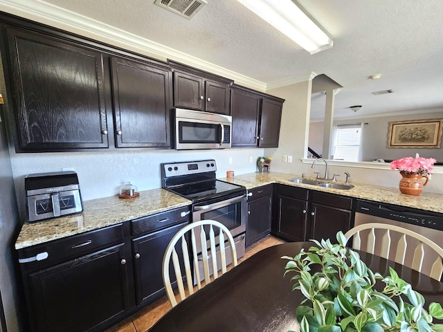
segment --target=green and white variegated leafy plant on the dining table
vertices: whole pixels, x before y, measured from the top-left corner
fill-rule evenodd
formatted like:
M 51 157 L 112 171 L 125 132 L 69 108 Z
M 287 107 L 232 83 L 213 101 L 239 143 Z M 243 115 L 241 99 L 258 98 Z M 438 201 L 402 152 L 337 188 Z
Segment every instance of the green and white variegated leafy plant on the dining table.
M 296 317 L 301 332 L 443 332 L 443 324 L 433 324 L 433 317 L 442 320 L 441 304 L 424 308 L 424 297 L 413 291 L 394 269 L 383 277 L 373 273 L 354 250 L 345 247 L 343 232 L 338 243 L 329 239 L 316 243 L 305 252 L 287 259 L 284 275 L 291 277 L 292 289 L 300 290 L 310 306 L 300 305 Z M 317 265 L 318 272 L 311 273 Z M 376 282 L 385 284 L 377 291 Z

